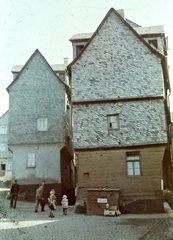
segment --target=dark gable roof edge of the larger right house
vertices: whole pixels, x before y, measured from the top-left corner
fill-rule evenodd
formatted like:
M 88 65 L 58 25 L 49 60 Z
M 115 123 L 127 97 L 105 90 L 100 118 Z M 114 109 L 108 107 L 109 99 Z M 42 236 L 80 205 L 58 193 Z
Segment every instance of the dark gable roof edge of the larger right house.
M 94 37 L 97 35 L 97 33 L 99 32 L 99 30 L 102 28 L 103 24 L 106 22 L 107 18 L 110 16 L 111 13 L 116 14 L 121 21 L 136 35 L 136 37 L 138 39 L 140 39 L 141 42 L 143 42 L 143 44 L 145 46 L 147 46 L 151 52 L 153 52 L 154 54 L 156 54 L 158 57 L 160 57 L 161 59 L 164 59 L 164 56 L 159 53 L 157 50 L 155 50 L 154 48 L 152 48 L 144 39 L 143 37 L 141 37 L 133 28 L 132 26 L 114 9 L 111 8 L 108 13 L 106 14 L 106 16 L 104 17 L 104 19 L 102 20 L 102 22 L 100 23 L 100 25 L 98 26 L 98 28 L 96 29 L 96 31 L 94 32 L 94 34 L 91 36 L 91 38 L 89 39 L 89 41 L 87 42 L 87 44 L 85 45 L 85 47 L 83 48 L 83 50 L 80 52 L 80 54 L 67 66 L 67 69 L 70 70 L 71 66 L 81 57 L 81 55 L 83 54 L 83 52 L 85 51 L 85 49 L 88 47 L 88 45 L 91 43 L 91 41 L 94 39 Z

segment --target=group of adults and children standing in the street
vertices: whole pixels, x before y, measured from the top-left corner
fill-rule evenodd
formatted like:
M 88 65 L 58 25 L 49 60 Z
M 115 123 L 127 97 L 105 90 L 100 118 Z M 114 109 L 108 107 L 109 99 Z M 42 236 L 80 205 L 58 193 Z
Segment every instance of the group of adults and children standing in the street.
M 14 180 L 14 183 L 11 186 L 10 189 L 10 207 L 11 208 L 16 208 L 16 203 L 17 203 L 17 197 L 19 193 L 19 184 L 17 183 L 17 180 Z M 62 209 L 63 209 L 63 215 L 67 215 L 67 209 L 68 209 L 68 198 L 66 195 L 63 195 L 62 200 Z M 46 205 L 46 191 L 45 191 L 45 181 L 40 184 L 40 186 L 36 190 L 35 194 L 35 213 L 38 212 L 38 207 L 39 205 L 41 206 L 41 211 L 44 212 L 44 207 Z M 49 217 L 53 218 L 54 217 L 54 211 L 56 210 L 56 196 L 55 196 L 55 190 L 52 189 L 50 191 L 50 196 L 48 198 L 48 206 L 50 209 L 50 214 Z

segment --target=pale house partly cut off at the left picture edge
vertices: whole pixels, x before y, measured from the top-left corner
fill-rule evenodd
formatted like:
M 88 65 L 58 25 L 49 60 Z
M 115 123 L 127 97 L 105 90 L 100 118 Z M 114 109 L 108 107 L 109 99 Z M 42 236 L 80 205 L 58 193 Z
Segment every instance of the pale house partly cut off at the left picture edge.
M 0 117 L 0 182 L 12 179 L 12 153 L 8 150 L 8 111 Z

